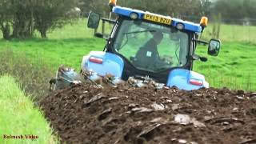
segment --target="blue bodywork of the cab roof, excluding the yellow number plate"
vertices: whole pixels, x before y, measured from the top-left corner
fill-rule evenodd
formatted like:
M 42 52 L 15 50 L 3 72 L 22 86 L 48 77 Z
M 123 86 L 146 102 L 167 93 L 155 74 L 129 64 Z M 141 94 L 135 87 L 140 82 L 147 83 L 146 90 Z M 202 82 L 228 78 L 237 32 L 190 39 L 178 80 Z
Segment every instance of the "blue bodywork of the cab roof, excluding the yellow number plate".
M 136 13 L 138 14 L 138 18 L 139 19 L 143 19 L 144 14 L 152 14 L 152 15 L 158 15 L 158 14 L 153 14 L 150 12 L 145 12 L 142 10 L 134 10 L 134 9 L 130 9 L 130 8 L 126 8 L 126 7 L 121 7 L 121 6 L 114 6 L 112 11 L 115 14 L 118 15 L 122 15 L 122 16 L 126 16 L 130 18 L 130 14 L 132 13 Z M 164 18 L 170 18 L 168 16 L 162 16 L 162 15 L 158 15 Z M 185 30 L 190 30 L 193 31 L 195 33 L 201 33 L 202 32 L 202 27 L 199 24 L 193 23 L 193 22 L 187 22 L 187 21 L 183 21 L 182 19 L 178 19 L 178 18 L 170 18 L 172 20 L 171 22 L 171 26 L 177 26 L 178 23 L 182 23 L 185 27 Z

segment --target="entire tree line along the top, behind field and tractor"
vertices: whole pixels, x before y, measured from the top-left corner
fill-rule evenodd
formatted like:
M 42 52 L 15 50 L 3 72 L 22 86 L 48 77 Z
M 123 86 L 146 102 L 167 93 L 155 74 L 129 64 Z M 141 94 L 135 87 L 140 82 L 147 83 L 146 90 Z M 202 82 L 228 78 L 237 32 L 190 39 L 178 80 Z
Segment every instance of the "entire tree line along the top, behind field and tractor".
M 193 22 L 201 16 L 220 15 L 223 22 L 256 24 L 255 0 L 118 0 L 118 5 Z M 0 0 L 3 38 L 31 38 L 35 30 L 46 38 L 48 31 L 73 22 L 70 10 L 74 7 L 79 7 L 84 17 L 90 10 L 102 16 L 110 12 L 108 0 Z

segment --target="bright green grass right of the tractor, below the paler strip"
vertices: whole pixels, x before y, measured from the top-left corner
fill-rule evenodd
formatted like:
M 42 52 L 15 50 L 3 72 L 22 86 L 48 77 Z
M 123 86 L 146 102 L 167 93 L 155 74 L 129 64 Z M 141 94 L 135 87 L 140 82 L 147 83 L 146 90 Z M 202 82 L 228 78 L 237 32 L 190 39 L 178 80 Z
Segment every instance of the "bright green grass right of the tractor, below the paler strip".
M 210 86 L 256 90 L 256 44 L 224 42 L 218 57 L 206 55 L 206 47 L 199 46 L 197 54 L 208 62 L 194 62 L 194 70 L 206 76 Z

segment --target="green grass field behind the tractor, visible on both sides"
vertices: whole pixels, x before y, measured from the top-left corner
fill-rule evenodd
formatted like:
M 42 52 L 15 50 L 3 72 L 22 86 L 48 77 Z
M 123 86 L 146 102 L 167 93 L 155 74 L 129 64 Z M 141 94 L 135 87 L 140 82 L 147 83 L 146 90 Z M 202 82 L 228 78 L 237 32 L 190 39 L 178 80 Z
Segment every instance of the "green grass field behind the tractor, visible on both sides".
M 203 34 L 210 38 L 211 26 Z M 77 69 L 84 54 L 91 50 L 103 50 L 105 40 L 93 38 L 94 30 L 86 28 L 86 21 L 80 20 L 74 25 L 65 26 L 48 34 L 47 39 L 0 40 L 0 49 L 12 49 L 14 54 L 26 55 L 31 62 L 45 62 L 50 71 L 61 64 Z M 0 34 L 1 36 L 1 34 Z M 227 86 L 232 89 L 256 90 L 256 26 L 222 25 L 222 50 L 218 57 L 206 55 L 206 47 L 199 46 L 197 53 L 209 58 L 208 62 L 195 62 L 194 71 L 206 75 L 211 86 Z

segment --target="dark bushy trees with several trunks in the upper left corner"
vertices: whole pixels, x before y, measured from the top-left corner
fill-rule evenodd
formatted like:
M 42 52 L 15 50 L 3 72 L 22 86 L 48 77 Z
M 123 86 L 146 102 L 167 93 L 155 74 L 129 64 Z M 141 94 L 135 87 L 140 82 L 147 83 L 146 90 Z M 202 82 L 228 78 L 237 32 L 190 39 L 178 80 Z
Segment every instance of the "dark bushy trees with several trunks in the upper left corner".
M 1 0 L 3 38 L 31 38 L 34 30 L 46 38 L 47 30 L 70 22 L 66 14 L 76 4 L 76 0 Z

